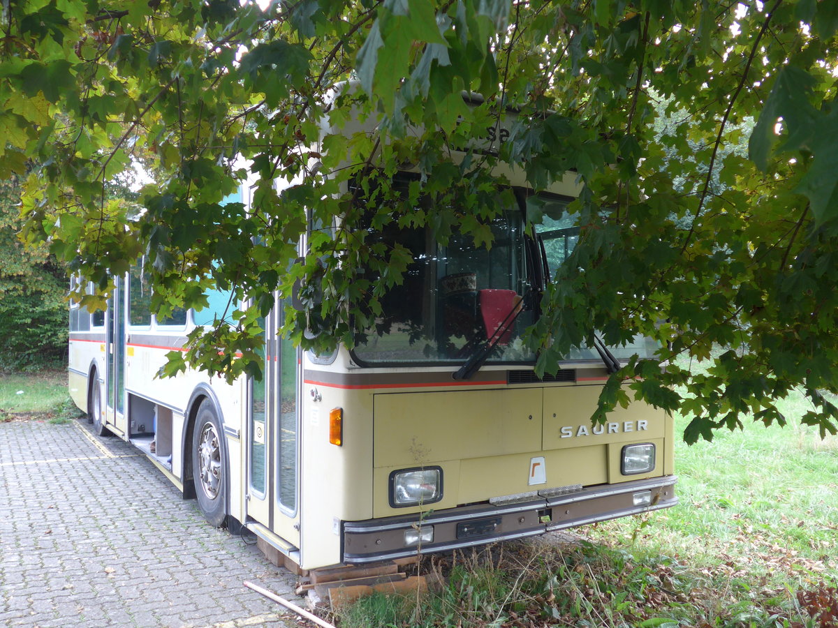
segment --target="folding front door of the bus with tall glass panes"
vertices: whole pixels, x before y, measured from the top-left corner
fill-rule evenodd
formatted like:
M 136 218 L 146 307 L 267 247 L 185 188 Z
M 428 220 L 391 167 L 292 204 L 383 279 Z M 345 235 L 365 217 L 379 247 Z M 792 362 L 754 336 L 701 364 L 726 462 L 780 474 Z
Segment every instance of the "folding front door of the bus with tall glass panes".
M 300 360 L 291 340 L 277 336 L 282 302 L 266 330 L 261 382 L 251 379 L 247 429 L 247 516 L 299 547 Z

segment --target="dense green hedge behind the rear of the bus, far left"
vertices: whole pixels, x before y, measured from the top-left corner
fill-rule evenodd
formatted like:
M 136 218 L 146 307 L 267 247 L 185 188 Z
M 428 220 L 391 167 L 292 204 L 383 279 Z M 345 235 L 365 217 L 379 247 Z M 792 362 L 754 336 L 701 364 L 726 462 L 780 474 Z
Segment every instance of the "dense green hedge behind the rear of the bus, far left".
M 19 188 L 0 181 L 0 370 L 60 366 L 67 352 L 63 273 L 45 245 L 18 240 Z

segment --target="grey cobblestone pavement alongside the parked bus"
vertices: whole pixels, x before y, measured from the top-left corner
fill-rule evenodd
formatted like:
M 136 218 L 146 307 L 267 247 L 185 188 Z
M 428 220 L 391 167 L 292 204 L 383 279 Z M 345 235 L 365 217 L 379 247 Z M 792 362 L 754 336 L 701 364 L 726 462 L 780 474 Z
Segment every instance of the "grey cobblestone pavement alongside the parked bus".
M 83 421 L 0 423 L 0 625 L 299 625 L 244 580 L 303 604 L 132 445 Z

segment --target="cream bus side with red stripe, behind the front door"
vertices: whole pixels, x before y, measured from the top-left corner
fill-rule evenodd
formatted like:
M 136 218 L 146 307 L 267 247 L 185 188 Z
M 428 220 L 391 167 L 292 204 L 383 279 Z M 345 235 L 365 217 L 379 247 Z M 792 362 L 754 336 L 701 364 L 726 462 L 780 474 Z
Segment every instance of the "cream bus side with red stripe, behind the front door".
M 178 488 L 191 494 L 192 425 L 204 399 L 218 416 L 225 454 L 225 511 L 243 519 L 241 452 L 246 381 L 232 385 L 190 371 L 159 377 L 167 353 L 183 347 L 186 317 L 173 325 L 131 324 L 127 281 L 117 281 L 116 297 L 104 312 L 70 311 L 69 388 L 75 404 L 89 414 L 100 399 L 102 425 L 142 450 Z M 114 301 L 116 300 L 116 306 Z M 92 407 L 91 407 L 92 406 Z

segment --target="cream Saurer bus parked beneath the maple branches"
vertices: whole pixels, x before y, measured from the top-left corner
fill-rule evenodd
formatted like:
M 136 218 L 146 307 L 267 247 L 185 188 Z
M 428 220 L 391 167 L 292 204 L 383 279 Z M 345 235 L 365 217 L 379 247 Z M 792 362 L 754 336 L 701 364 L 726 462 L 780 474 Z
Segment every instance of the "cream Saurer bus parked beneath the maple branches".
M 392 185 L 407 189 L 407 170 Z M 369 229 L 411 252 L 405 280 L 354 347 L 302 351 L 266 317 L 261 381 L 188 371 L 158 378 L 166 353 L 211 325 L 201 311 L 151 311 L 142 264 L 117 277 L 105 311 L 70 307 L 69 381 L 98 435 L 135 445 L 216 526 L 244 527 L 298 569 L 366 564 L 524 538 L 674 506 L 673 423 L 634 402 L 592 425 L 608 374 L 656 347 L 581 349 L 536 376 L 522 340 L 540 291 L 572 251 L 571 173 L 540 194 L 514 190 L 491 249 L 428 229 Z M 247 204 L 244 186 L 235 200 Z M 300 243 L 301 252 L 306 243 Z

